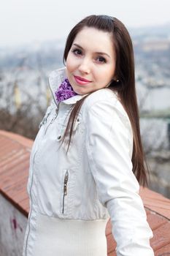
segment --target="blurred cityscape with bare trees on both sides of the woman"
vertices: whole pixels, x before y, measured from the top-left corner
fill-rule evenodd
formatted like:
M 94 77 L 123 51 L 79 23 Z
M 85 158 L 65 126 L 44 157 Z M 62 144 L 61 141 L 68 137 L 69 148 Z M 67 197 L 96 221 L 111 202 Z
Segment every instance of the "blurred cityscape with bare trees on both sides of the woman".
M 129 29 L 151 189 L 170 197 L 170 24 Z M 0 129 L 34 139 L 50 102 L 48 75 L 63 67 L 65 42 L 0 48 Z

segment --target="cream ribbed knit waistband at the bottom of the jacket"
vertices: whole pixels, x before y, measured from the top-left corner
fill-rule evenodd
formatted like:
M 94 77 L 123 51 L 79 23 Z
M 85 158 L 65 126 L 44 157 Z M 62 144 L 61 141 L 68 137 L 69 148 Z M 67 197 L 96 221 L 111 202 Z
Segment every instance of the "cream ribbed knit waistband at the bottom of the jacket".
M 33 256 L 107 256 L 107 221 L 40 215 Z

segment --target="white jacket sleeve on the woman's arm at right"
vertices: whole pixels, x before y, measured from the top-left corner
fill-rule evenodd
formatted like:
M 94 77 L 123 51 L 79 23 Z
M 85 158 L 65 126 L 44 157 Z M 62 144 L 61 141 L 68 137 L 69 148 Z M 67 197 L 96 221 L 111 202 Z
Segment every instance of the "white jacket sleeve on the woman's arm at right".
M 86 150 L 98 197 L 107 207 L 117 256 L 153 256 L 139 183 L 132 171 L 131 124 L 120 102 L 101 100 L 86 111 Z

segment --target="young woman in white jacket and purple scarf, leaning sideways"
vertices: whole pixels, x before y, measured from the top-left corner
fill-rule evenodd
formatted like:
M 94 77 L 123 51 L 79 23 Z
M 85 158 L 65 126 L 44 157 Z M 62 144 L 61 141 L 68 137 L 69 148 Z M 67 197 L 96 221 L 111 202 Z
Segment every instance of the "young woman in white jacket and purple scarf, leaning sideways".
M 63 59 L 31 151 L 23 256 L 107 256 L 109 218 L 117 256 L 152 256 L 128 31 L 90 15 L 69 33 Z

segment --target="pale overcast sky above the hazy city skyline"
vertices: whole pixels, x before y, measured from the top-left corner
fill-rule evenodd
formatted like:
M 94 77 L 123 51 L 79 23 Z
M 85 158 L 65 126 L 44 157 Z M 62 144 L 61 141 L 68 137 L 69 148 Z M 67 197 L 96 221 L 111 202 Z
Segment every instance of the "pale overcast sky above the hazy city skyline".
M 170 22 L 170 0 L 1 0 L 0 46 L 65 39 L 87 15 L 119 18 L 127 27 Z

